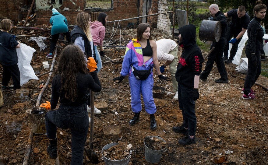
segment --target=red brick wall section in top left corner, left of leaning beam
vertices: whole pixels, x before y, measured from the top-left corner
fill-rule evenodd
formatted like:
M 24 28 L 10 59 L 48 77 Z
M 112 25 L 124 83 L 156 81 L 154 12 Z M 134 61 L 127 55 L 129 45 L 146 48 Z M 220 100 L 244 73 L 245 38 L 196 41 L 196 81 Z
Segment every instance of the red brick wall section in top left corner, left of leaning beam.
M 28 0 L 0 0 L 0 4 L 0 19 L 8 18 L 15 22 L 26 18 L 28 14 L 28 11 L 22 12 L 21 7 L 31 5 L 28 3 Z

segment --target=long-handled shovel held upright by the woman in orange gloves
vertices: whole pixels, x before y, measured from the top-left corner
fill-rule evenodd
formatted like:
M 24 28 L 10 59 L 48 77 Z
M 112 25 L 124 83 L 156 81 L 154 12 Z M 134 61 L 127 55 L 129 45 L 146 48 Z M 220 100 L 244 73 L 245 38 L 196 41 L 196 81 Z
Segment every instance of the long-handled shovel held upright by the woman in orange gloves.
M 93 151 L 93 128 L 94 128 L 94 92 L 90 90 L 90 141 L 89 141 L 89 146 L 90 148 L 87 149 L 84 147 L 86 156 L 90 160 L 91 163 L 93 164 L 98 164 L 99 163 L 99 158 L 97 153 Z

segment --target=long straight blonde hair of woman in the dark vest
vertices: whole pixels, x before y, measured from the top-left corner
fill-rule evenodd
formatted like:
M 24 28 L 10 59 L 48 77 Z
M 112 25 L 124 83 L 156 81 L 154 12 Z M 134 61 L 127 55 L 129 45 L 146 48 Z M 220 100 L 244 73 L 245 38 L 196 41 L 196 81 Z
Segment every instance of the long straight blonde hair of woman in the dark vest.
M 90 14 L 86 12 L 80 12 L 76 16 L 76 24 L 84 31 L 89 41 L 92 41 L 92 35 L 90 32 L 90 25 L 88 23 Z

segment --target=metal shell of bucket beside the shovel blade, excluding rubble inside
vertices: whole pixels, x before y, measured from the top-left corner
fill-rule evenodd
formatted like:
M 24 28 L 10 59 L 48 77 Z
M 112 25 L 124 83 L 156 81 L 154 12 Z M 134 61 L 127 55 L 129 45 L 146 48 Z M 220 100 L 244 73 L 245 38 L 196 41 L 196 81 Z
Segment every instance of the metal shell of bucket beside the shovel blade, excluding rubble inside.
M 103 151 L 105 151 L 105 150 L 109 149 L 111 146 L 115 146 L 115 145 L 118 145 L 118 143 L 110 143 L 102 148 L 101 153 L 102 153 L 105 165 L 128 165 L 130 158 L 131 158 L 131 150 L 130 150 L 129 156 L 127 156 L 125 159 L 122 159 L 122 160 L 111 160 L 111 159 L 106 158 L 103 155 Z

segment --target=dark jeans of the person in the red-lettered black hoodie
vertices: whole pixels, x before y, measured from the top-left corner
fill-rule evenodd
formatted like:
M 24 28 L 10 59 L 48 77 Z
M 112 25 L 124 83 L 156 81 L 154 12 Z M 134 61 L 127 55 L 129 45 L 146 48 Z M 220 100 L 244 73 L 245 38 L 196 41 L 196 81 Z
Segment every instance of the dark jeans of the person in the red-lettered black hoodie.
M 192 97 L 193 88 L 186 87 L 178 83 L 179 108 L 182 110 L 183 123 L 188 128 L 189 135 L 196 134 L 196 113 L 195 101 Z

